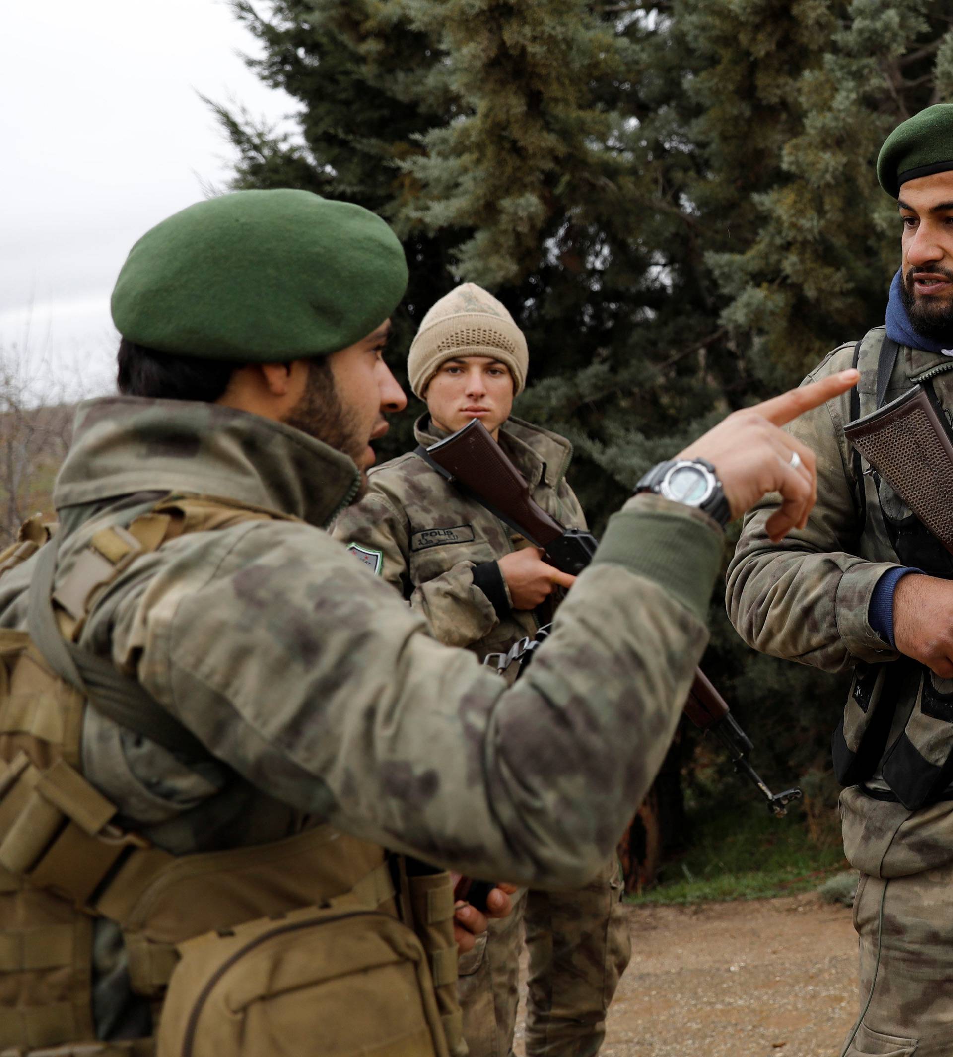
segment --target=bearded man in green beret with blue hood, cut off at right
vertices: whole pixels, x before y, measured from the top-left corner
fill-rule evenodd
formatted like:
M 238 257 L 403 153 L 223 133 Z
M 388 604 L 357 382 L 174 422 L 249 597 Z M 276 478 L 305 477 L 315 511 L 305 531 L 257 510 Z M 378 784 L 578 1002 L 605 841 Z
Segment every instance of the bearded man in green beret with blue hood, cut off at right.
M 855 673 L 834 737 L 860 871 L 861 1016 L 843 1053 L 940 1057 L 953 1053 L 953 560 L 844 427 L 918 384 L 953 412 L 953 105 L 898 126 L 877 177 L 902 224 L 885 323 L 808 375 L 853 364 L 861 381 L 786 427 L 818 453 L 818 502 L 782 541 L 774 500 L 748 515 L 728 609 L 756 649 Z

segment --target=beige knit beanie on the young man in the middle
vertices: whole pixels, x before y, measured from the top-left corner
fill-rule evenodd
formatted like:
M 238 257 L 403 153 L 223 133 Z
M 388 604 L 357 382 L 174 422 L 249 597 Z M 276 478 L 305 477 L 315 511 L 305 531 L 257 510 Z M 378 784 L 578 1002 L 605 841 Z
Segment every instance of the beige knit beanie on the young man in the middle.
M 515 396 L 526 385 L 529 350 L 523 332 L 496 297 L 472 282 L 451 290 L 421 321 L 407 358 L 410 388 L 423 400 L 441 364 L 459 356 L 492 356 L 505 364 Z

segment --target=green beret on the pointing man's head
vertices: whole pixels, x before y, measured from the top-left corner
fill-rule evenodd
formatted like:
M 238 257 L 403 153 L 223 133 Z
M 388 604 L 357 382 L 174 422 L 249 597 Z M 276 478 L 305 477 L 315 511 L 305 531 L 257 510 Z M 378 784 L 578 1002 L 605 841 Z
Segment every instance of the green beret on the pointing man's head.
M 404 249 L 373 212 L 311 191 L 236 191 L 136 242 L 112 317 L 127 340 L 160 352 L 277 363 L 354 345 L 406 289 Z

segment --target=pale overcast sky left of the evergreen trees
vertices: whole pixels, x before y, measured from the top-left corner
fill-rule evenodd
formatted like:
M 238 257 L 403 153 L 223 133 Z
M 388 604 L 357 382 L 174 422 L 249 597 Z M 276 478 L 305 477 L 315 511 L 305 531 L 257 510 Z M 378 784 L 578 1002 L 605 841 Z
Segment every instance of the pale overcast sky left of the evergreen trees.
M 199 93 L 278 120 L 255 39 L 222 0 L 26 0 L 0 33 L 0 356 L 108 391 L 109 295 L 132 243 L 229 174 Z M 51 376 L 52 375 L 52 376 Z

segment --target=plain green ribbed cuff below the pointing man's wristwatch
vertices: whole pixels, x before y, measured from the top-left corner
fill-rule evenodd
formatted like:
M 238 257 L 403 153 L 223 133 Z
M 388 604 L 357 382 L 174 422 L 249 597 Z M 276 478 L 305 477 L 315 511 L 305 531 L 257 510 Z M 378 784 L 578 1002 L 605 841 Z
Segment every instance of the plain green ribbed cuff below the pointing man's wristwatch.
M 654 580 L 705 622 L 724 539 L 707 514 L 639 495 L 610 518 L 593 563 L 612 561 Z

